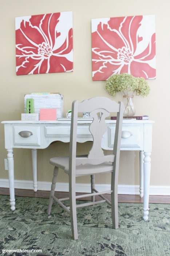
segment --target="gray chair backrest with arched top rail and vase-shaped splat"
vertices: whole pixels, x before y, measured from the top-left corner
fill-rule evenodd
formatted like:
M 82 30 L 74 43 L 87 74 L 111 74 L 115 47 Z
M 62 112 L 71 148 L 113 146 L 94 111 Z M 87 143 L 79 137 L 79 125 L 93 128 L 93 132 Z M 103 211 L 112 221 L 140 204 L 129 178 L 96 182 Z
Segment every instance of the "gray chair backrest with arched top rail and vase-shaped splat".
M 93 117 L 93 121 L 89 126 L 89 130 L 93 136 L 93 144 L 87 157 L 76 157 L 77 118 L 79 112 L 90 112 L 90 116 Z M 113 154 L 104 155 L 101 148 L 102 136 L 107 129 L 105 118 L 108 117 L 111 112 L 117 113 L 114 149 Z M 72 172 L 75 170 L 76 165 L 84 165 L 86 163 L 98 165 L 103 162 L 115 162 L 117 157 L 119 159 L 122 120 L 122 102 L 116 103 L 106 97 L 95 97 L 82 102 L 74 101 L 72 103 L 69 158 L 69 168 Z

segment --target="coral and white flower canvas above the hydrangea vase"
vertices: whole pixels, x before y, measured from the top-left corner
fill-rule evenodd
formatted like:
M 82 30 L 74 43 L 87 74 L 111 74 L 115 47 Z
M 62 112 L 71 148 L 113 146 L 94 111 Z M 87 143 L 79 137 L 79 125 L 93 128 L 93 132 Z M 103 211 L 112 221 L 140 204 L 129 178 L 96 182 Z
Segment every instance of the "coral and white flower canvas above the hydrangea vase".
M 92 19 L 92 79 L 128 73 L 154 79 L 155 16 Z

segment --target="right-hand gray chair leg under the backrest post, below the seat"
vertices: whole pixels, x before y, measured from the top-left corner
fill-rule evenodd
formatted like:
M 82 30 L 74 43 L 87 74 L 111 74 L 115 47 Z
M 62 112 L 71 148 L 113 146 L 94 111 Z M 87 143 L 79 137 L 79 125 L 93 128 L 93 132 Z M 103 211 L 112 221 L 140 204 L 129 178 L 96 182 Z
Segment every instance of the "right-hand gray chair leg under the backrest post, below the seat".
M 111 211 L 112 211 L 112 227 L 118 229 L 118 184 L 115 182 L 115 174 L 111 173 Z

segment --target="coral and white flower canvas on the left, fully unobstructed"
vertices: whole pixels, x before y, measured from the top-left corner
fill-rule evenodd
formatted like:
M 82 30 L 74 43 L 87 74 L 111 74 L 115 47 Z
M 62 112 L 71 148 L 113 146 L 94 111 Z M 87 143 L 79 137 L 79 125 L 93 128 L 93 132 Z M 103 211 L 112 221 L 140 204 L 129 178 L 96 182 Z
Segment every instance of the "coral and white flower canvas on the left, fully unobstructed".
M 72 12 L 15 18 L 16 74 L 73 71 Z

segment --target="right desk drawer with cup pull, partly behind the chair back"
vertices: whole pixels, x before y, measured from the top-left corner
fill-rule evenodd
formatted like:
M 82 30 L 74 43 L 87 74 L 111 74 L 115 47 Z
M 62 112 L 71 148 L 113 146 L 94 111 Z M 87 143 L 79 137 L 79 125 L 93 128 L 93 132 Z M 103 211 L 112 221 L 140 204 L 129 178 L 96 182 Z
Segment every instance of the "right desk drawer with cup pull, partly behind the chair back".
M 108 147 L 113 147 L 115 136 L 115 126 L 108 127 Z M 143 133 L 141 125 L 123 126 L 121 147 L 141 147 L 143 143 Z

